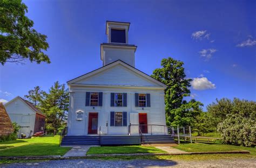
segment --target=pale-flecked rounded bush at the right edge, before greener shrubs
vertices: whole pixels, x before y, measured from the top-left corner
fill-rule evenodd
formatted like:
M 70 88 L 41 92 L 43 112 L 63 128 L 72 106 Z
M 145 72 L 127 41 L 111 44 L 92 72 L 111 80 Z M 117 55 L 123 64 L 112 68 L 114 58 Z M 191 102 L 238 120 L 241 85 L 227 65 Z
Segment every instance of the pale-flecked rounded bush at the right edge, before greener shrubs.
M 227 115 L 227 118 L 218 124 L 218 132 L 225 144 L 253 146 L 256 140 L 255 120 L 239 114 Z

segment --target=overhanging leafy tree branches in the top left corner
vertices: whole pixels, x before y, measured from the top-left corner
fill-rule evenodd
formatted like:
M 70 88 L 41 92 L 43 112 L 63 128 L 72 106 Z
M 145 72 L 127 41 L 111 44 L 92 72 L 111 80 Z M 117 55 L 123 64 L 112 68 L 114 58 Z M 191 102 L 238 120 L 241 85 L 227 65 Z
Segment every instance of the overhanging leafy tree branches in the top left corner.
M 0 0 L 0 62 L 50 63 L 43 51 L 49 48 L 46 36 L 38 33 L 25 16 L 28 7 L 21 0 Z

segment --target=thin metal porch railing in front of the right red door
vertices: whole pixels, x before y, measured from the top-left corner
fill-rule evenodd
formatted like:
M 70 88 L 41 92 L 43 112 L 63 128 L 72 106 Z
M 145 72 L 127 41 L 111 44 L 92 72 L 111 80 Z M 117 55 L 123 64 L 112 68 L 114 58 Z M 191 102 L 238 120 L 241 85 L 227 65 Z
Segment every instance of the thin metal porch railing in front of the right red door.
M 169 134 L 169 128 L 166 125 L 157 124 L 130 124 L 129 135 L 131 134 Z

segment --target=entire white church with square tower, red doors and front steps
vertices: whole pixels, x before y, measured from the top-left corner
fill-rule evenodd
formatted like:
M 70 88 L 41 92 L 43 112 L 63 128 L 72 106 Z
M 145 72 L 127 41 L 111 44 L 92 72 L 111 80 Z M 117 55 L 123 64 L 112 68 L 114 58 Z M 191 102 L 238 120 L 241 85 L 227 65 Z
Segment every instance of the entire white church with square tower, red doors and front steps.
M 107 21 L 107 43 L 100 44 L 103 66 L 68 81 L 70 108 L 62 145 L 140 144 L 146 136 L 161 141 L 155 135 L 173 140 L 165 120 L 166 85 L 135 67 L 137 46 L 129 44 L 129 27 Z

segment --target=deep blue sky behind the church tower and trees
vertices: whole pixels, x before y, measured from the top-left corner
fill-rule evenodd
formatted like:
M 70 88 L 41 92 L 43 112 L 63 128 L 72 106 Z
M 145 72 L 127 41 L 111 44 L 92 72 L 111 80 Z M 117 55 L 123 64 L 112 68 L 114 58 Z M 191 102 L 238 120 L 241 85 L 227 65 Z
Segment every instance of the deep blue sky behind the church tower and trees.
M 184 61 L 191 94 L 205 107 L 222 97 L 256 100 L 255 1 L 23 2 L 34 28 L 48 36 L 52 63 L 1 66 L 2 101 L 101 67 L 106 20 L 131 23 L 140 71 L 152 74 L 167 57 Z

